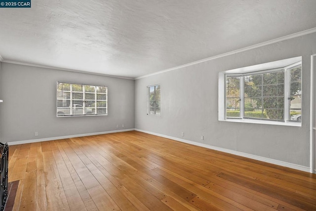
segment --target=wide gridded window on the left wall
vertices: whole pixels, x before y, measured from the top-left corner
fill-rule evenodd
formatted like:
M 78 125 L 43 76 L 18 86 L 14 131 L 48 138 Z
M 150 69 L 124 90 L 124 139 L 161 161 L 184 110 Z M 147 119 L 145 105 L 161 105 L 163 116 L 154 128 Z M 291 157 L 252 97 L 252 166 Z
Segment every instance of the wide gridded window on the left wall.
M 108 114 L 108 88 L 57 82 L 57 116 Z

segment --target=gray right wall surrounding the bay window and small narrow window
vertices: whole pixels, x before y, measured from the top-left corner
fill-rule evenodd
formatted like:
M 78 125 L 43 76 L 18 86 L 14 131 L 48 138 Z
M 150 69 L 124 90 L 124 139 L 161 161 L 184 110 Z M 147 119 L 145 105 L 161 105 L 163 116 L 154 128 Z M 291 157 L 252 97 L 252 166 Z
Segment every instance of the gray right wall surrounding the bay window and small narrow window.
M 316 53 L 316 34 L 137 79 L 135 128 L 309 167 L 313 53 Z M 297 56 L 303 58 L 302 127 L 218 121 L 220 71 Z M 161 84 L 161 116 L 147 115 L 146 87 L 153 84 Z

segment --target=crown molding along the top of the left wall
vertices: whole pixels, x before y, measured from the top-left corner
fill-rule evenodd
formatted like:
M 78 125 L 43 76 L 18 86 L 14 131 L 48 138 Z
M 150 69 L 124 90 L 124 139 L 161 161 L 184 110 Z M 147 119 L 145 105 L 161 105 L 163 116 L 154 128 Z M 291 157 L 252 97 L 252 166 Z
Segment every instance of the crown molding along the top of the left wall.
M 2 59 L 2 61 L 1 61 L 1 59 L 2 59 L 2 57 L 0 56 L 0 62 L 15 64 L 15 65 L 25 65 L 25 66 L 31 66 L 31 67 L 37 67 L 37 68 L 46 68 L 46 69 L 52 69 L 52 70 L 64 70 L 64 71 L 70 71 L 70 72 L 79 72 L 79 73 L 85 73 L 85 74 L 101 75 L 101 76 L 107 76 L 107 77 L 134 80 L 134 78 L 132 78 L 132 77 L 122 77 L 122 76 L 108 75 L 108 74 L 88 72 L 88 71 L 82 71 L 82 70 L 71 70 L 71 69 L 66 69 L 66 68 L 57 68 L 57 67 L 52 67 L 52 66 L 47 66 L 47 65 L 39 65 L 39 64 L 33 64 L 33 63 L 27 63 L 27 62 L 18 62 L 18 61 L 5 60 L 5 59 Z

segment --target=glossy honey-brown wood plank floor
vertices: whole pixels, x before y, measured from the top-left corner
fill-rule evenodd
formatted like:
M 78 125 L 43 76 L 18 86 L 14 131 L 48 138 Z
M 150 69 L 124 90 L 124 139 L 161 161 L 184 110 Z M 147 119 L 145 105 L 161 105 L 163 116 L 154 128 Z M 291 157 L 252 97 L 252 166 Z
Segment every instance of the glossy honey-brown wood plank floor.
M 316 210 L 316 175 L 136 131 L 9 154 L 13 210 Z

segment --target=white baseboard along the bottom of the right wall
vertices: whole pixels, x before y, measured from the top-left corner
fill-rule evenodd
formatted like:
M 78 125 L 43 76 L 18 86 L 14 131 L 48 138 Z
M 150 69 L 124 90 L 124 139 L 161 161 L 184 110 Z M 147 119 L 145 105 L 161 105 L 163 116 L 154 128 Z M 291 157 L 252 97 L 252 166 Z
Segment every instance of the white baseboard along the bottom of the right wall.
M 189 143 L 189 144 L 193 144 L 193 145 L 196 145 L 196 146 L 201 146 L 201 147 L 205 147 L 205 148 L 208 148 L 208 149 L 214 149 L 214 150 L 217 150 L 217 151 L 226 152 L 226 153 L 233 154 L 233 155 L 238 155 L 238 156 L 242 156 L 242 157 L 246 157 L 246 158 L 250 158 L 250 159 L 254 159 L 254 160 L 259 160 L 259 161 L 263 161 L 263 162 L 266 162 L 266 163 L 271 163 L 271 164 L 275 164 L 275 165 L 278 165 L 278 166 L 284 166 L 284 167 L 288 167 L 288 168 L 291 168 L 291 169 L 296 169 L 296 170 L 300 170 L 300 171 L 303 171 L 303 172 L 310 173 L 310 168 L 306 167 L 306 166 L 301 166 L 301 165 L 297 165 L 297 164 L 287 163 L 287 162 L 284 162 L 284 161 L 274 160 L 274 159 L 271 159 L 271 158 L 265 158 L 265 157 L 261 157 L 261 156 L 257 156 L 257 155 L 244 153 L 244 152 L 238 152 L 238 151 L 234 151 L 234 150 L 231 150 L 231 149 L 225 149 L 225 148 L 221 148 L 221 147 L 217 147 L 217 146 L 211 146 L 211 145 L 208 145 L 208 144 L 198 143 L 198 142 L 195 142 L 195 141 L 179 139 L 179 138 L 176 138 L 176 137 L 166 136 L 166 135 L 162 135 L 162 134 L 158 134 L 158 133 L 154 133 L 154 132 L 150 132 L 150 131 L 145 131 L 145 130 L 140 130 L 140 129 L 137 129 L 137 128 L 135 128 L 135 131 L 148 133 L 148 134 L 151 134 L 151 135 L 155 135 L 155 136 L 159 136 L 159 137 L 163 137 L 163 138 L 167 138 L 167 139 L 172 139 L 172 140 L 175 140 L 175 141 L 181 141 L 181 142 L 184 142 L 184 143 Z

